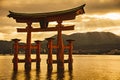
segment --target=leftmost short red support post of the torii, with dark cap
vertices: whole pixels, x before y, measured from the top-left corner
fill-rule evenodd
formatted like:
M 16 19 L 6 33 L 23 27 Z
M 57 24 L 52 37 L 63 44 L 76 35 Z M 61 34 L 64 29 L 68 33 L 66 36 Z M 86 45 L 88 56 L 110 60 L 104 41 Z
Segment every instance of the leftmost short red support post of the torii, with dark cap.
M 14 41 L 13 69 L 14 71 L 17 71 L 18 70 L 18 52 L 19 52 L 18 42 L 20 41 L 20 39 L 12 39 L 12 41 Z

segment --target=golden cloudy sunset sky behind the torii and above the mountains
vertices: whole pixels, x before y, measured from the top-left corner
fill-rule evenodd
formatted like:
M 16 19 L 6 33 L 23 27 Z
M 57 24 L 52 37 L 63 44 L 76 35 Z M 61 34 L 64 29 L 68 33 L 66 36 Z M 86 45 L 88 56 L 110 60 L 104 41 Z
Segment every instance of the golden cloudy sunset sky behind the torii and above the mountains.
M 64 31 L 64 34 L 84 32 L 112 32 L 120 36 L 120 0 L 0 0 L 0 40 L 26 39 L 26 33 L 17 33 L 16 28 L 25 28 L 26 24 L 16 23 L 8 18 L 8 11 L 41 13 L 71 9 L 82 4 L 85 14 L 79 15 L 75 20 L 64 22 L 65 25 L 75 25 L 75 30 Z M 32 26 L 39 27 L 38 23 Z M 50 23 L 55 26 L 55 22 Z M 44 40 L 56 32 L 33 33 L 32 40 Z

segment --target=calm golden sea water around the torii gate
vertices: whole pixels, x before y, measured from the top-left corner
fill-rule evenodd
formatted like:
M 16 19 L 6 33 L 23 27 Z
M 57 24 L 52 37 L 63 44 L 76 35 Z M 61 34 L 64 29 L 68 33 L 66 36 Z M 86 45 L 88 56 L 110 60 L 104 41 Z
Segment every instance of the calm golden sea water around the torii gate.
M 36 71 L 35 63 L 32 63 L 32 70 L 26 73 L 24 64 L 20 63 L 18 72 L 14 73 L 12 58 L 12 55 L 0 55 L 0 80 L 120 80 L 118 55 L 73 55 L 73 71 L 69 72 L 65 64 L 63 74 L 57 73 L 56 64 L 51 74 L 47 72 L 47 55 L 41 55 L 40 71 Z M 24 56 L 20 55 L 19 58 Z

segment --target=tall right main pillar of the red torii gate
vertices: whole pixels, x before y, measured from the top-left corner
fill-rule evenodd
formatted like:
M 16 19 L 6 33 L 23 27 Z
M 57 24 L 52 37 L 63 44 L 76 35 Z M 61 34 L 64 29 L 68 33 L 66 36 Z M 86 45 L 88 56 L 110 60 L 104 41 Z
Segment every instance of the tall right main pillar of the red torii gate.
M 58 52 L 57 52 L 57 70 L 64 70 L 64 44 L 62 39 L 62 21 L 57 21 L 58 25 L 56 26 L 58 28 L 58 35 L 57 35 L 57 46 L 58 46 Z

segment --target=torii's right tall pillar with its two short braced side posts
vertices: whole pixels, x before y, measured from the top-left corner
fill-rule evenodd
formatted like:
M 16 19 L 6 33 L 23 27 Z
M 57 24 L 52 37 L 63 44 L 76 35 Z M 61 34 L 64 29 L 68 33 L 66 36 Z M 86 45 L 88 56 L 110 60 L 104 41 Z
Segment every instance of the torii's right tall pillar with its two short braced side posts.
M 62 30 L 61 27 L 63 27 L 63 25 L 61 24 L 62 21 L 58 22 L 58 25 L 56 26 L 58 28 L 58 36 L 57 36 L 57 46 L 53 45 L 53 38 L 48 38 L 48 49 L 49 49 L 49 53 L 48 53 L 48 69 L 52 70 L 52 63 L 57 63 L 57 70 L 58 71 L 64 71 L 64 63 L 69 63 L 69 70 L 72 70 L 72 49 L 73 49 L 73 44 L 72 41 L 73 40 L 68 40 L 69 45 L 68 46 L 64 46 L 63 44 L 63 40 L 62 40 Z M 52 49 L 55 48 L 57 49 L 57 60 L 52 60 Z M 69 58 L 68 60 L 64 60 L 64 49 L 68 48 L 69 49 Z

